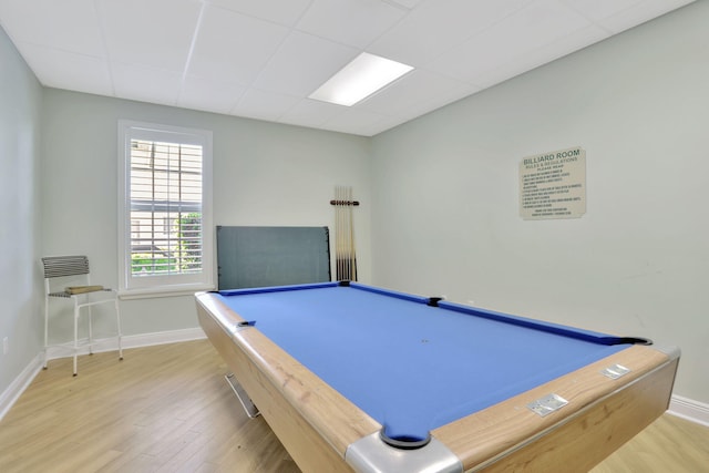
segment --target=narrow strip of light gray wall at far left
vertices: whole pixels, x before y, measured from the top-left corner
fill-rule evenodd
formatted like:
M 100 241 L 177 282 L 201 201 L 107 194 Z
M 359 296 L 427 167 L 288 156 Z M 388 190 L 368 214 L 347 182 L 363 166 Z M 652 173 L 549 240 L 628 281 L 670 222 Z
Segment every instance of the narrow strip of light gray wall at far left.
M 42 348 L 40 105 L 42 89 L 0 28 L 0 393 Z M 9 351 L 2 352 L 8 338 Z

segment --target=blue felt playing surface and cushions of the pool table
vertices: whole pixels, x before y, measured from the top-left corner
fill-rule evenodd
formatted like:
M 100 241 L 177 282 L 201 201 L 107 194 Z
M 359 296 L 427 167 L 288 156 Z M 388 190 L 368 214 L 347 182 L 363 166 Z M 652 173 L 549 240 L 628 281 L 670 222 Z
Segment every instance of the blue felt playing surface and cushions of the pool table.
M 356 284 L 222 291 L 222 299 L 394 439 L 424 439 L 628 347 L 608 345 L 614 338 L 603 333 L 431 307 L 428 298 Z

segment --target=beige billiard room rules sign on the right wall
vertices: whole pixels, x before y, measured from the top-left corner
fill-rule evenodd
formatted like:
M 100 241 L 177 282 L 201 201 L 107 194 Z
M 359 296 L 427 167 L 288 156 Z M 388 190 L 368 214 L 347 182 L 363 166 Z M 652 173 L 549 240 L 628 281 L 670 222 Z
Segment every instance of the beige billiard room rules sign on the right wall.
M 552 151 L 520 162 L 520 216 L 578 218 L 586 213 L 586 152 Z

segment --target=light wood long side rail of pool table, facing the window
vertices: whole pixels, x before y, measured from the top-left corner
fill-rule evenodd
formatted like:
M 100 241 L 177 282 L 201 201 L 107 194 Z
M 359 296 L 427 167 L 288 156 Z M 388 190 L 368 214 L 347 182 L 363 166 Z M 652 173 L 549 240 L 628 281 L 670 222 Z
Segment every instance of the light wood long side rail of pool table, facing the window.
M 351 472 L 347 446 L 381 429 L 349 400 L 215 298 L 197 301 L 199 323 L 301 470 Z M 228 315 L 216 320 L 212 315 Z

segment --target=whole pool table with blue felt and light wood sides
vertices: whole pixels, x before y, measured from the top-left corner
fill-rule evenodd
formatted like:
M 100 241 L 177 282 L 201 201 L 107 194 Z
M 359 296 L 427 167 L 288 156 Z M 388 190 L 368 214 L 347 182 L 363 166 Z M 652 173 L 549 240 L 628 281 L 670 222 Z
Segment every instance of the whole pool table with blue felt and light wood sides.
M 196 295 L 305 472 L 587 471 L 669 404 L 679 350 L 357 282 Z

